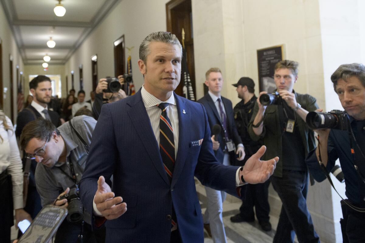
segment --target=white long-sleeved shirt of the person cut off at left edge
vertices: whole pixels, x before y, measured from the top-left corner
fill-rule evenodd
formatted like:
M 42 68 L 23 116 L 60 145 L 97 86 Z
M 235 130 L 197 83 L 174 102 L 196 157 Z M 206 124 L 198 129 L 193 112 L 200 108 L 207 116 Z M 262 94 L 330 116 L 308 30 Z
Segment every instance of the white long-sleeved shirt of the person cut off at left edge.
M 23 208 L 22 160 L 20 159 L 13 124 L 7 116 L 6 122 L 9 126 L 8 130 L 5 130 L 3 120 L 0 120 L 0 173 L 3 173 L 4 170 L 8 170 L 8 173 L 11 175 L 13 205 L 14 209 L 19 209 Z

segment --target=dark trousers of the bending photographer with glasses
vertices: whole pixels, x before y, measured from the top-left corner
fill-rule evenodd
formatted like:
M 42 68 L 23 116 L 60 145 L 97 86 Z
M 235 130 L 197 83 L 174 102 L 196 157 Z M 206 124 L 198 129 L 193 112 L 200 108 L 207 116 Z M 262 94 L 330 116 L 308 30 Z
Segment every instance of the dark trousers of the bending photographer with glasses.
M 76 243 L 80 242 L 78 235 L 81 232 L 81 223 L 69 223 L 65 219 L 57 229 L 55 243 Z M 84 223 L 82 233 L 83 243 L 104 243 L 105 242 L 105 227 L 92 231 L 91 225 Z

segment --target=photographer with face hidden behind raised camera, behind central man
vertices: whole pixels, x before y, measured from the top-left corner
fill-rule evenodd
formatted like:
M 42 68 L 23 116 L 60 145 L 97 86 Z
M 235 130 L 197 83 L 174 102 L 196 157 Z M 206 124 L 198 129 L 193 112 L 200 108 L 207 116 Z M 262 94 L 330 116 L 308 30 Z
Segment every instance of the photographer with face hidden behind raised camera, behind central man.
M 118 80 L 120 86 L 123 87 L 124 85 L 124 78 L 123 75 L 118 76 Z M 104 90 L 108 89 L 108 82 L 107 78 L 100 78 L 99 84 L 96 86 L 95 90 L 95 101 L 92 106 L 94 117 L 97 120 L 99 118 L 101 112 L 101 106 L 106 103 L 113 103 L 115 101 L 124 99 L 127 97 L 126 92 L 123 89 L 119 89 L 118 92 L 104 92 Z

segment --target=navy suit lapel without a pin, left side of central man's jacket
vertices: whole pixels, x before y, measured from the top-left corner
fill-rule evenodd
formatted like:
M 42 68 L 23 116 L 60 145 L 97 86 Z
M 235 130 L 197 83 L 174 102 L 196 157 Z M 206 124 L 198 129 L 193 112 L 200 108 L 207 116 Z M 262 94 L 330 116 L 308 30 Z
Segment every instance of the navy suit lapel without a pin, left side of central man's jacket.
M 142 101 L 141 90 L 139 90 L 134 96 L 131 96 L 127 104 L 130 106 L 130 109 L 128 109 L 128 115 L 132 120 L 132 124 L 137 131 L 143 146 L 145 146 L 146 151 L 151 158 L 151 161 L 154 163 L 158 173 L 160 173 L 164 181 L 170 185 L 170 181 L 162 163 L 156 137 L 153 133 L 145 104 L 143 104 Z

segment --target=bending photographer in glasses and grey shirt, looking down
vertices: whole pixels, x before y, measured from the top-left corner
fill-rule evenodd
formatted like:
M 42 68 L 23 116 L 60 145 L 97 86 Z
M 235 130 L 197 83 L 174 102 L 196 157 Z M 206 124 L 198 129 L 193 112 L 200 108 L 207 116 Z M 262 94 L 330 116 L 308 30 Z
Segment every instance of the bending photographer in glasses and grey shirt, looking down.
M 68 202 L 69 216 L 73 210 L 77 211 L 78 205 L 82 208 L 76 185 L 84 173 L 95 124 L 96 120 L 92 117 L 77 116 L 58 128 L 44 119 L 31 121 L 24 127 L 20 144 L 27 157 L 38 162 L 35 183 L 42 207 Z M 65 195 L 65 198 L 58 200 L 62 196 L 60 193 L 67 193 L 68 197 Z M 89 212 L 83 211 L 83 220 L 82 211 L 74 215 L 80 216 L 80 220 L 64 220 L 57 231 L 56 243 L 76 242 L 78 235 L 83 236 L 84 242 L 94 242 L 95 239 L 104 242 L 105 229 L 92 232 Z

